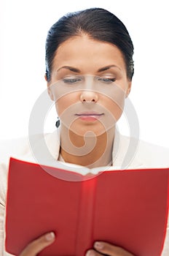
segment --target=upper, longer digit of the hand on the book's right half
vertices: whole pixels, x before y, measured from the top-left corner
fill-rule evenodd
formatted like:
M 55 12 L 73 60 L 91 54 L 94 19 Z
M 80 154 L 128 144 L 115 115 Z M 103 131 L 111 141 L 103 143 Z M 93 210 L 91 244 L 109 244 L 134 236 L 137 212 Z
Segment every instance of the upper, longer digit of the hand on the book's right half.
M 110 256 L 134 256 L 130 252 L 127 252 L 125 249 L 123 249 L 119 246 L 114 246 L 112 244 L 108 244 L 108 243 L 102 242 L 102 241 L 95 242 L 94 248 L 98 252 L 101 252 L 102 254 L 105 254 L 105 255 L 110 255 Z

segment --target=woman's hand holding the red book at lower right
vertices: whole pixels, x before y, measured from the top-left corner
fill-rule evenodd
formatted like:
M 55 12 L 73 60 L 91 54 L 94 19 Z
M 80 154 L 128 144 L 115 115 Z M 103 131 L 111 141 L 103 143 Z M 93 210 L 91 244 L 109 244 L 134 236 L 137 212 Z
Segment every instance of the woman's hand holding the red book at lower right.
M 109 255 L 109 256 L 134 256 L 130 252 L 125 251 L 119 246 L 114 246 L 112 244 L 108 244 L 106 242 L 95 242 L 94 249 L 90 249 L 87 251 L 86 256 L 101 256 L 101 255 Z

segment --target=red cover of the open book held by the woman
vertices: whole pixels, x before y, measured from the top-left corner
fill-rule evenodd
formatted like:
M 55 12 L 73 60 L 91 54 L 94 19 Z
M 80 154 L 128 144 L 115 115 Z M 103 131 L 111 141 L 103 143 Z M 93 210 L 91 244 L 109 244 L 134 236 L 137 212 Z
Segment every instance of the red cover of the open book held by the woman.
M 39 255 L 82 256 L 94 241 L 108 241 L 137 256 L 160 256 L 169 169 L 110 170 L 87 179 L 55 167 L 45 170 L 10 159 L 7 252 L 18 255 L 30 241 L 54 231 L 54 244 Z

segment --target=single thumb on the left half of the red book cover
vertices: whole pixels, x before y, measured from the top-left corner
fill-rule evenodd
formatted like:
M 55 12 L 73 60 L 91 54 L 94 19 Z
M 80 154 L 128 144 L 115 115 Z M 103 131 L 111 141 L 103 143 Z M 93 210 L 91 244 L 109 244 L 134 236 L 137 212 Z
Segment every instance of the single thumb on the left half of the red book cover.
M 28 244 L 25 247 L 23 252 L 21 252 L 20 256 L 36 256 L 37 253 L 41 252 L 42 249 L 49 246 L 55 241 L 55 233 L 47 233 L 44 236 L 41 236 Z

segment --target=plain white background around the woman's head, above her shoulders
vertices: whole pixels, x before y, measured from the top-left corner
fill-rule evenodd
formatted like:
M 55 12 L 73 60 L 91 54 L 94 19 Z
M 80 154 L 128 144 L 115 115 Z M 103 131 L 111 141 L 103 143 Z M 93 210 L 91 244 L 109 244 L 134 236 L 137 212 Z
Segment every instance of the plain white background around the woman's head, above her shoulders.
M 28 135 L 31 109 L 46 89 L 47 31 L 67 12 L 103 7 L 125 23 L 135 46 L 130 99 L 138 113 L 140 138 L 169 147 L 168 1 L 0 0 L 0 139 Z M 45 131 L 55 129 L 54 108 Z M 125 118 L 119 122 L 127 134 Z

